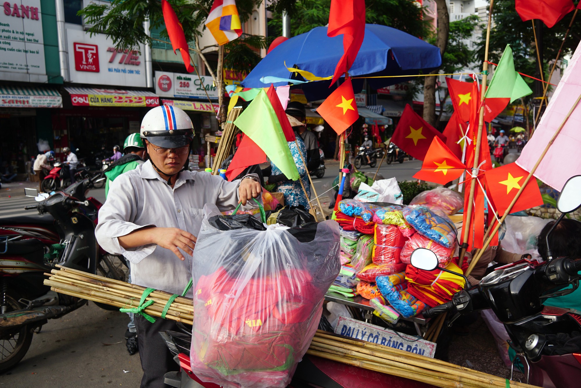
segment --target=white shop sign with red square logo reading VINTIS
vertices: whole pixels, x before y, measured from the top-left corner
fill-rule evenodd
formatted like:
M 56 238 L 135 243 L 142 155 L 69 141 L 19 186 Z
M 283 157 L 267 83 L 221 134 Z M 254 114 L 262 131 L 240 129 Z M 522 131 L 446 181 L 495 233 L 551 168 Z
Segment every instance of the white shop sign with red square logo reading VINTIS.
M 79 84 L 146 87 L 145 46 L 117 50 L 105 34 L 67 28 L 70 81 Z M 141 51 L 141 53 L 140 53 Z

